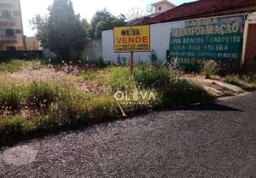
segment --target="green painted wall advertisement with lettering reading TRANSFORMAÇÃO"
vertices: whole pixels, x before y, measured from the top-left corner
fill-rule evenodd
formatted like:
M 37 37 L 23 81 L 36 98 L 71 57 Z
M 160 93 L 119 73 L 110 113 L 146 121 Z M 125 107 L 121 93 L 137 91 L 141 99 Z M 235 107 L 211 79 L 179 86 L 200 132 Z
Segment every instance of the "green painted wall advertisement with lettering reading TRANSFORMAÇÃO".
M 171 30 L 169 57 L 178 63 L 240 61 L 246 15 L 184 21 Z

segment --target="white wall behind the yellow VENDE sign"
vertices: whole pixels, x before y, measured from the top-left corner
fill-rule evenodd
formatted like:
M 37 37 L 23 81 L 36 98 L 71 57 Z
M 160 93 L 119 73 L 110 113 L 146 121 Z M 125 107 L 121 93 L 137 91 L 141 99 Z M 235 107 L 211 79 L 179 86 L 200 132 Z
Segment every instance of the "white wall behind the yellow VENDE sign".
M 151 51 L 154 49 L 159 61 L 166 61 L 167 50 L 169 49 L 170 31 L 172 28 L 183 28 L 184 22 L 159 23 L 150 26 Z M 118 56 L 129 59 L 129 53 L 114 53 L 113 31 L 102 31 L 102 57 L 115 63 Z M 134 53 L 134 60 L 150 61 L 150 53 Z

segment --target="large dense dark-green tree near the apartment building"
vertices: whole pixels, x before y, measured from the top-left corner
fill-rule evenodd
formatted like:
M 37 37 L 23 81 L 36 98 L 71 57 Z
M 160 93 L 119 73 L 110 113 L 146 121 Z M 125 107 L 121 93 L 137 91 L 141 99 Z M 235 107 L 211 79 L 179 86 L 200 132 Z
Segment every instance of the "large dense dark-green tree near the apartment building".
M 42 45 L 64 61 L 75 60 L 84 48 L 86 33 L 79 15 L 74 14 L 71 0 L 54 0 L 49 17 L 36 16 L 31 20 L 37 28 Z

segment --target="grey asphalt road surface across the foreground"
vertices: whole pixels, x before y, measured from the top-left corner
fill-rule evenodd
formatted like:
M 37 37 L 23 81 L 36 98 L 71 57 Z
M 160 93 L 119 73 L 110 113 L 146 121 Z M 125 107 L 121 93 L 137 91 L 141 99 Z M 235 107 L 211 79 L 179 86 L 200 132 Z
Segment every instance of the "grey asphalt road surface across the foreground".
M 256 177 L 256 93 L 32 140 L 0 177 Z

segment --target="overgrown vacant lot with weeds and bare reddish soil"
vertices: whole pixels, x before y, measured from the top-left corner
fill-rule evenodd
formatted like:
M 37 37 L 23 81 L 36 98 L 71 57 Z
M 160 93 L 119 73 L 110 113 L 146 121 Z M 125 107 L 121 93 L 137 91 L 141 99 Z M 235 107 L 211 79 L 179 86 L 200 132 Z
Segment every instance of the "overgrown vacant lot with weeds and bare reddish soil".
M 200 84 L 181 76 L 175 68 L 143 63 L 132 76 L 127 66 L 1 63 L 1 143 L 211 97 Z

